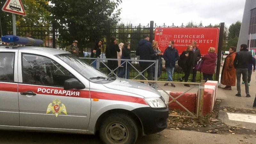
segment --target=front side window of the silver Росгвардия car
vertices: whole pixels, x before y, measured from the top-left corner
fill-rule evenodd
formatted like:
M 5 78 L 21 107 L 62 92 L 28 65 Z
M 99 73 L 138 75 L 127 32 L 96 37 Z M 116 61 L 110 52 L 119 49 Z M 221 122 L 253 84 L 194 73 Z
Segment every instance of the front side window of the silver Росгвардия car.
M 41 55 L 22 54 L 23 83 L 63 86 L 69 78 L 75 76 L 56 61 Z

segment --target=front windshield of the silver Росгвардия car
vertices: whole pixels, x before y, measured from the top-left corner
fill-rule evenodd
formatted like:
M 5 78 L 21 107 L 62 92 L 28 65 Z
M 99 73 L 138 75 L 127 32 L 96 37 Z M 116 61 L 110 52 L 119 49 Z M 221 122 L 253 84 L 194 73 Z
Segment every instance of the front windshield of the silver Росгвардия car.
M 56 55 L 62 61 L 67 63 L 70 67 L 74 68 L 78 73 L 84 76 L 87 79 L 94 78 L 94 77 L 106 77 L 108 75 L 102 73 L 98 69 L 90 66 L 88 63 L 83 61 L 82 59 L 72 55 L 72 54 L 59 54 Z

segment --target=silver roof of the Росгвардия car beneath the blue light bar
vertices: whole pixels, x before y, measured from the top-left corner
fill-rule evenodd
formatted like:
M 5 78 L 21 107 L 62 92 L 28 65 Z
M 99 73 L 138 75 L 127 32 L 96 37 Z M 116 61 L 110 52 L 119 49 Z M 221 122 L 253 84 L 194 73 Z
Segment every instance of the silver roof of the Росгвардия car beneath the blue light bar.
M 15 50 L 19 49 L 22 50 L 22 52 L 26 53 L 34 53 L 34 54 L 68 54 L 69 52 L 55 49 L 55 48 L 48 48 L 48 47 L 35 47 L 35 46 L 18 46 L 15 48 L 12 48 L 12 46 L 8 46 L 9 49 Z M 8 48 L 6 46 L 0 46 L 0 50 L 6 49 L 8 51 Z M 39 53 L 40 52 L 40 53 Z

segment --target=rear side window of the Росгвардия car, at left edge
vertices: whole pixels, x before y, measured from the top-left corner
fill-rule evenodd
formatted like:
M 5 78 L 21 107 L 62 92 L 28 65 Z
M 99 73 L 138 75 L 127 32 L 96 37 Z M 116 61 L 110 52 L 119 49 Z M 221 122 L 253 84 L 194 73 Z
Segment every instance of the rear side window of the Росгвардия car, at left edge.
M 0 53 L 0 81 L 14 82 L 14 53 Z

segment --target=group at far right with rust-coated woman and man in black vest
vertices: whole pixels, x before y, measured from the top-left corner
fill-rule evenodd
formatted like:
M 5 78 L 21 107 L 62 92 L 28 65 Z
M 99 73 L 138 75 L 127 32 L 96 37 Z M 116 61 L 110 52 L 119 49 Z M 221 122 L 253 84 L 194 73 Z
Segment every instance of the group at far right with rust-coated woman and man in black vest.
M 252 71 L 255 71 L 255 59 L 252 57 L 252 53 L 247 50 L 247 45 L 242 44 L 239 52 L 236 52 L 236 47 L 231 46 L 221 72 L 221 84 L 226 85 L 223 89 L 232 90 L 231 86 L 236 85 L 236 96 L 241 97 L 240 83 L 242 75 L 242 83 L 245 85 L 246 97 L 251 97 L 249 85 Z

